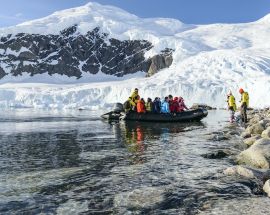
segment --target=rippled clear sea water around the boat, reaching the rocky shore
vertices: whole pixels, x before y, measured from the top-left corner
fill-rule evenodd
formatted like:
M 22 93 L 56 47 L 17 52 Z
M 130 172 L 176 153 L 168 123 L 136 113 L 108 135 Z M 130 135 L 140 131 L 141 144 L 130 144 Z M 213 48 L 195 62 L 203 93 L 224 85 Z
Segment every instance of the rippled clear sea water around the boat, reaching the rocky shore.
M 226 111 L 187 124 L 100 114 L 1 111 L 0 214 L 263 213 L 255 182 L 222 174 L 232 157 L 202 156 L 240 151 L 239 138 L 216 138 L 236 130 Z

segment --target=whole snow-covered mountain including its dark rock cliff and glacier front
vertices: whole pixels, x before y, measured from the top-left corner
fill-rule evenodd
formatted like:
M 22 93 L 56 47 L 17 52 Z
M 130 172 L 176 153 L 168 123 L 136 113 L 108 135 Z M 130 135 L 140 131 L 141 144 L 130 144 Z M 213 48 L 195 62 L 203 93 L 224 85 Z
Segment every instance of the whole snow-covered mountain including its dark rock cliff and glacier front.
M 2 107 L 93 109 L 123 102 L 135 87 L 143 97 L 217 107 L 243 87 L 252 106 L 270 105 L 270 15 L 186 25 L 88 3 L 2 28 L 0 37 Z

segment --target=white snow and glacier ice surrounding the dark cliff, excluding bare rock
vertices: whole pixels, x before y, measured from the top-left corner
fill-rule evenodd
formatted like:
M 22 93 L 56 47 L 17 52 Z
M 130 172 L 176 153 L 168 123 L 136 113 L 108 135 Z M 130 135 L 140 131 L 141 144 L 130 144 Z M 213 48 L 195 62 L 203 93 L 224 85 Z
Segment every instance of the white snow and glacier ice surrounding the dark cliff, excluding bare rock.
M 59 76 L 15 80 L 26 83 L 7 83 L 14 82 L 7 77 L 0 82 L 0 107 L 97 109 L 123 102 L 135 87 L 143 97 L 181 95 L 188 104 L 216 107 L 226 106 L 228 90 L 238 101 L 237 91 L 243 87 L 252 106 L 270 106 L 270 15 L 245 24 L 186 25 L 173 19 L 142 19 L 119 8 L 89 3 L 0 29 L 0 36 L 54 34 L 74 24 L 82 34 L 99 26 L 112 38 L 146 39 L 154 45 L 146 57 L 164 48 L 174 49 L 173 65 L 149 78 L 138 73 L 124 80 L 105 77 L 105 81 L 101 75 L 95 83 L 87 83 L 86 76 L 81 80 Z

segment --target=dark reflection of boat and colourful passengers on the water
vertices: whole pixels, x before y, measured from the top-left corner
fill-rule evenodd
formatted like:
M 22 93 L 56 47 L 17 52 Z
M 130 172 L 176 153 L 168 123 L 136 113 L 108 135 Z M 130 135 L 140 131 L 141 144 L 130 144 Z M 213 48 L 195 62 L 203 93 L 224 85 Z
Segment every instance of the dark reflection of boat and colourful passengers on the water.
M 137 121 L 112 122 L 114 134 L 130 154 L 133 163 L 146 161 L 144 156 L 148 147 L 153 144 L 160 145 L 169 143 L 171 138 L 182 132 L 202 129 L 205 125 L 202 122 L 187 123 L 152 123 Z M 149 145 L 149 143 L 151 143 Z

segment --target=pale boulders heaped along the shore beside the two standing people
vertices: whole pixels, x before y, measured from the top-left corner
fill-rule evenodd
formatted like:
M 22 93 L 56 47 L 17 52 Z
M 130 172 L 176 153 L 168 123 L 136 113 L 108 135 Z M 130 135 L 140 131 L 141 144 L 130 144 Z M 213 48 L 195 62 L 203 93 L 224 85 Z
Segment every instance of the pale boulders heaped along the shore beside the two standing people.
M 248 110 L 248 123 L 240 137 L 246 146 L 236 156 L 238 165 L 223 171 L 227 176 L 259 179 L 270 197 L 270 108 Z

